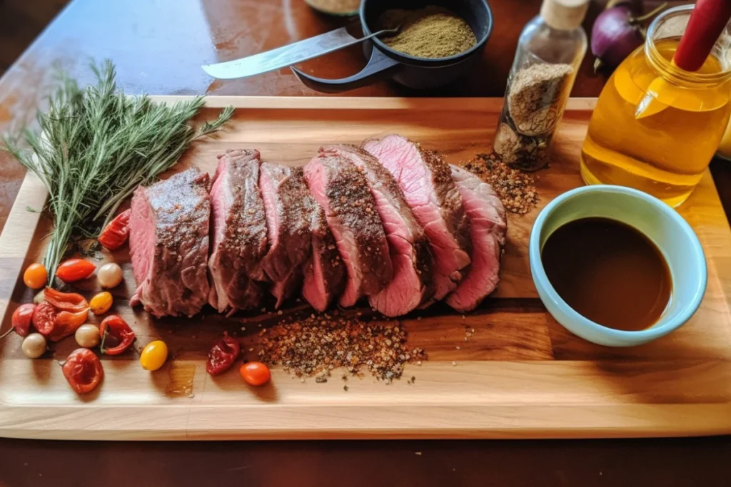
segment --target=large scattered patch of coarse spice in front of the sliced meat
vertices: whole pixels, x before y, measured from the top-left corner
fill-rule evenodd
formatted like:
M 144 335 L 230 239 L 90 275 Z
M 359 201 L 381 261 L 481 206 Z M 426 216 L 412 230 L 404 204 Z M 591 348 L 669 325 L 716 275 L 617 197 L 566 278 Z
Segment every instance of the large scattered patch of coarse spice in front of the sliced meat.
M 310 315 L 269 328 L 261 339 L 261 361 L 280 364 L 297 377 L 317 375 L 316 382 L 325 382 L 319 377 L 345 367 L 359 377 L 367 369 L 376 379 L 390 383 L 401 377 L 406 364 L 427 359 L 424 350 L 409 347 L 408 331 L 398 321 L 322 318 Z

